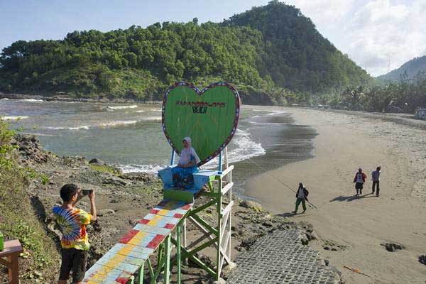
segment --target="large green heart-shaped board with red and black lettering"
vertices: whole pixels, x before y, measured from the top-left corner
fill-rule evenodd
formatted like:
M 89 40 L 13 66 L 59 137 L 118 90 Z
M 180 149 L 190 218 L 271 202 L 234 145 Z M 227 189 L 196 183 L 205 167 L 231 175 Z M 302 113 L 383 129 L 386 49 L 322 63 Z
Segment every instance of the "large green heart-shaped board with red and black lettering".
M 240 98 L 226 82 L 210 84 L 200 91 L 193 84 L 179 82 L 165 92 L 163 131 L 176 153 L 182 140 L 190 137 L 201 162 L 219 155 L 231 141 L 238 125 Z

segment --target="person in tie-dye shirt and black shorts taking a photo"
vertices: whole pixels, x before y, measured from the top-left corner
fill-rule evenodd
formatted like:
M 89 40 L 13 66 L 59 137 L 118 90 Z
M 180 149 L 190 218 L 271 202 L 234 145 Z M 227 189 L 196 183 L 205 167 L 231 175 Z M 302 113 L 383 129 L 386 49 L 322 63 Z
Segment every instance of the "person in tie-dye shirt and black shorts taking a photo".
M 90 214 L 75 207 L 83 197 L 82 191 L 74 184 L 61 187 L 62 206 L 52 209 L 53 216 L 62 231 L 61 255 L 62 263 L 58 284 L 66 284 L 72 270 L 72 283 L 80 284 L 86 273 L 87 251 L 90 248 L 86 225 L 97 218 L 94 203 L 94 191 L 89 193 Z

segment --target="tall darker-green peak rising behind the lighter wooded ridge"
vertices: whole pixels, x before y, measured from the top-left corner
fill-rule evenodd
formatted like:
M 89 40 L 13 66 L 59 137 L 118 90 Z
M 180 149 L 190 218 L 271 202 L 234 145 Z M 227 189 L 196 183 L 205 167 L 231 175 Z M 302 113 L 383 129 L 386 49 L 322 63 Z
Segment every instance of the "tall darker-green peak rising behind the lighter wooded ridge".
M 295 6 L 271 1 L 267 6 L 232 16 L 224 23 L 261 31 L 265 48 L 258 70 L 271 75 L 280 86 L 315 93 L 368 84 L 371 80 Z

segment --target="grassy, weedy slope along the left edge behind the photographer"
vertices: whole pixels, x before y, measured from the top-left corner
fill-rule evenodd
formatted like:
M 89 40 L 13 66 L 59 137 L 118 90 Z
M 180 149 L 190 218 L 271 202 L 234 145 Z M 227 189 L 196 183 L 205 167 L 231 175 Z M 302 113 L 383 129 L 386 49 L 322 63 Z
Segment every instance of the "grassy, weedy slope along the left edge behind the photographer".
M 13 134 L 0 119 L 0 231 L 6 240 L 21 241 L 21 283 L 53 283 L 59 254 L 54 241 L 46 236 L 27 191 L 29 180 L 45 178 L 18 165 L 16 146 L 11 144 Z M 7 273 L 0 273 L 0 283 L 6 279 Z

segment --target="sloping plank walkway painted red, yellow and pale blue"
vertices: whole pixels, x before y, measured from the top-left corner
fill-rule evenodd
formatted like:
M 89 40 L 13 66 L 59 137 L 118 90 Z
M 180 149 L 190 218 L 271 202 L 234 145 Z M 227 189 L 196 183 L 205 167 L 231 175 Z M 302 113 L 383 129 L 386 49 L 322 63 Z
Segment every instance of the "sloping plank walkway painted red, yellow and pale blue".
M 86 272 L 87 284 L 126 284 L 192 209 L 193 203 L 163 200 Z

